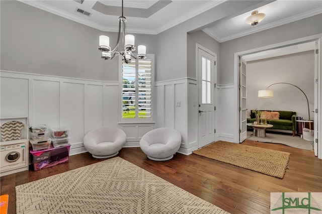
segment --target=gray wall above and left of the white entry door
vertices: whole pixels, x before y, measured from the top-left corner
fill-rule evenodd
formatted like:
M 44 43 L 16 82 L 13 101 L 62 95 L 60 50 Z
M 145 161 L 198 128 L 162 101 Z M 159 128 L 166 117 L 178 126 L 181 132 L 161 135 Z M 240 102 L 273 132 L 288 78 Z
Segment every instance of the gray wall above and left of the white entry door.
M 220 43 L 208 36 L 203 31 L 187 34 L 187 76 L 189 78 L 197 79 L 196 72 L 196 44 L 211 50 L 215 54 L 220 52 Z M 219 64 L 217 62 L 217 67 Z

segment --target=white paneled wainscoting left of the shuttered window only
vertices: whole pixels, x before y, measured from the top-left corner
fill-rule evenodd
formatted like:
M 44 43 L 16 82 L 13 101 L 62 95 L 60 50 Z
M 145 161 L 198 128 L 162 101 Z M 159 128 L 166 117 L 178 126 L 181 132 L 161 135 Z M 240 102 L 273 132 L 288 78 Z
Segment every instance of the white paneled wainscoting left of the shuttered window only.
M 29 126 L 69 128 L 70 155 L 86 152 L 85 134 L 118 127 L 118 81 L 1 71 L 1 118 L 28 116 Z

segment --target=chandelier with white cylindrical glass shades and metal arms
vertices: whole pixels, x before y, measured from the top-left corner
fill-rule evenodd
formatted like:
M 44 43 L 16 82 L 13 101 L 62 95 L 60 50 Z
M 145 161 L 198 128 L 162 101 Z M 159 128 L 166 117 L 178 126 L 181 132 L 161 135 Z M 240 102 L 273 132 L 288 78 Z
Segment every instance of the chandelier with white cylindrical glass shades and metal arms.
M 121 33 L 122 31 L 122 33 Z M 119 43 L 122 40 L 123 50 L 119 51 Z M 139 45 L 137 47 L 137 56 L 134 56 L 132 51 L 135 51 L 134 36 L 126 34 L 126 18 L 123 16 L 123 0 L 122 0 L 122 16 L 119 17 L 119 33 L 117 43 L 111 50 L 110 38 L 108 36 L 100 36 L 99 50 L 102 51 L 103 59 L 113 59 L 117 55 L 122 55 L 122 61 L 125 63 L 131 62 L 131 57 L 134 59 L 146 59 L 146 47 Z

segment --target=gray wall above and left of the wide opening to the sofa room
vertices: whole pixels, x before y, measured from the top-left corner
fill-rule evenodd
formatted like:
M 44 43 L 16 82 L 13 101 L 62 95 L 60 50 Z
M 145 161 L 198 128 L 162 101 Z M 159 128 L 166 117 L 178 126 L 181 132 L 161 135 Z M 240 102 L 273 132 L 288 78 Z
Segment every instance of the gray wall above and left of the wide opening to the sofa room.
M 220 44 L 219 84 L 233 83 L 233 54 L 322 33 L 322 14 Z

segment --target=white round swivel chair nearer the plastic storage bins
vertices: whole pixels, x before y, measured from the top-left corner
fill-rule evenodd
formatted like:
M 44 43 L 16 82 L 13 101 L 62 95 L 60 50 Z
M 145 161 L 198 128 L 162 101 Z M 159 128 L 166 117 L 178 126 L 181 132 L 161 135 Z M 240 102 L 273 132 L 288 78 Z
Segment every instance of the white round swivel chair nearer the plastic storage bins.
M 116 156 L 125 145 L 126 134 L 119 128 L 102 127 L 84 137 L 84 147 L 94 158 Z

